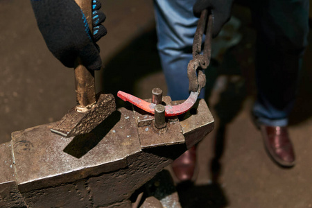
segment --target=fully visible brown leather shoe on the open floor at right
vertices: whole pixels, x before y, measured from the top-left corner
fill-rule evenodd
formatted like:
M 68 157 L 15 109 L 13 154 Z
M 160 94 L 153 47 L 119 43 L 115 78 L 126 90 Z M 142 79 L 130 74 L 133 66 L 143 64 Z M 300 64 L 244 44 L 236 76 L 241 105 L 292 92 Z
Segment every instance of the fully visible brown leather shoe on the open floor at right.
M 288 136 L 286 126 L 260 125 L 266 150 L 280 166 L 291 167 L 295 165 L 293 144 Z

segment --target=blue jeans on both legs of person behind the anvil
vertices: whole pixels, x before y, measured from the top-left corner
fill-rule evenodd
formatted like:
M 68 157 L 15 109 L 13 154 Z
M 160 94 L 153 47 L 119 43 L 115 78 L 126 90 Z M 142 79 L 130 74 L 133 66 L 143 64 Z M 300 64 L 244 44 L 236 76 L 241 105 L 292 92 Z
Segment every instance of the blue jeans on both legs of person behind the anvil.
M 195 1 L 154 0 L 157 49 L 173 100 L 189 96 L 187 64 L 198 21 L 193 16 Z M 309 0 L 255 0 L 251 10 L 257 29 L 258 96 L 253 113 L 260 123 L 287 125 L 307 45 Z

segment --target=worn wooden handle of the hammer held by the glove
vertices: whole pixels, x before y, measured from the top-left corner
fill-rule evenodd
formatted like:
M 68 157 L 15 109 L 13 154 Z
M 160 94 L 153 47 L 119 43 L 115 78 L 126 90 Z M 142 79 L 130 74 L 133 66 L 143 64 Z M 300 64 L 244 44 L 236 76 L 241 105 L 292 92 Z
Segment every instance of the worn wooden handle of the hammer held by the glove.
M 85 14 L 89 29 L 93 33 L 92 26 L 92 0 L 75 0 Z M 75 83 L 77 110 L 86 111 L 96 103 L 94 71 L 87 69 L 77 58 L 75 62 Z

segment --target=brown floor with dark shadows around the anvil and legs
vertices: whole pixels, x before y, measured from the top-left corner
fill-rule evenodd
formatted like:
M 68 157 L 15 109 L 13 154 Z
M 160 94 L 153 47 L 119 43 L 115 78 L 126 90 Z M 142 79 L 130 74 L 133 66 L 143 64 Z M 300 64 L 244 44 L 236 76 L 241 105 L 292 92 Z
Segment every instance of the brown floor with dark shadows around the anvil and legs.
M 153 2 L 102 1 L 108 34 L 98 42 L 105 70 L 97 89 L 148 98 L 166 92 L 159 66 Z M 241 42 L 207 73 L 207 101 L 216 128 L 198 146 L 198 179 L 178 186 L 183 207 L 312 207 L 312 48 L 307 49 L 300 94 L 291 115 L 297 165 L 279 168 L 266 155 L 250 119 L 254 87 L 254 31 L 250 14 L 236 6 Z M 10 133 L 58 121 L 76 104 L 73 71 L 53 58 L 37 29 L 29 1 L 0 0 L 0 142 Z M 312 35 L 309 35 L 312 40 Z M 219 61 L 220 61 L 219 60 Z M 117 100 L 119 106 L 123 102 Z

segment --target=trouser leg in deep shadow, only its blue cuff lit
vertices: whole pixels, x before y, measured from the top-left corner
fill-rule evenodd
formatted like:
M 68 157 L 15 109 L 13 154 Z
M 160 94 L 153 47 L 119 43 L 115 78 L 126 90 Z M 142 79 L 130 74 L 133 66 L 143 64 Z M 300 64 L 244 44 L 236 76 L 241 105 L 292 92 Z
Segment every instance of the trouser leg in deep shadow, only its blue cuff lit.
M 254 115 L 271 126 L 288 124 L 309 31 L 309 0 L 257 0 L 252 5 L 257 28 L 258 98 Z

